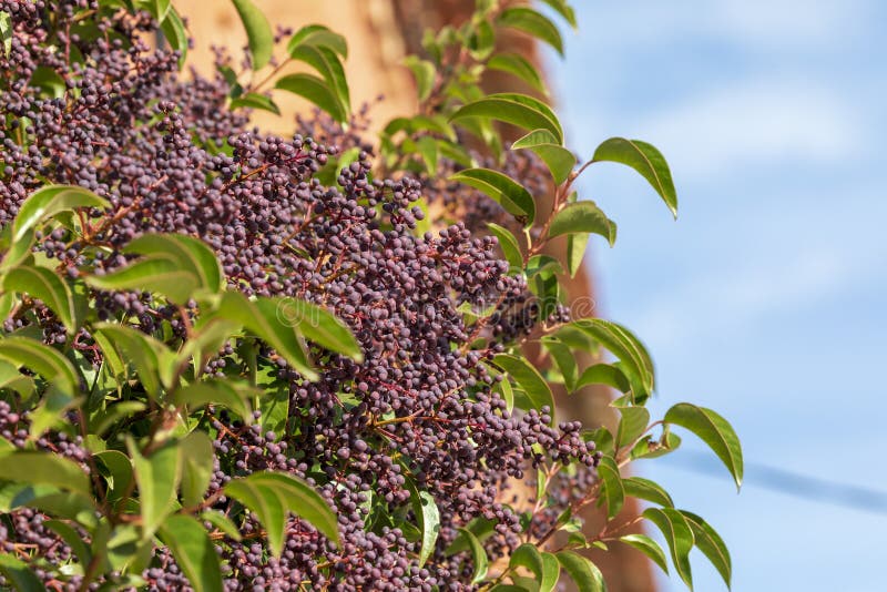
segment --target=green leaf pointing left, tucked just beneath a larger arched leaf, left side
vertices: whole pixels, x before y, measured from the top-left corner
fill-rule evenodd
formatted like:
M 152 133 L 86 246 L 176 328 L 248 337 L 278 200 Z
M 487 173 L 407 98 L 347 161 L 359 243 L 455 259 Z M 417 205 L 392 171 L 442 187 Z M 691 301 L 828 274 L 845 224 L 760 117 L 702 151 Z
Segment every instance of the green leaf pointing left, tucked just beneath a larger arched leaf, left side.
M 146 257 L 108 275 L 90 275 L 86 284 L 106 290 L 153 292 L 185 304 L 197 288 L 197 277 L 169 257 Z

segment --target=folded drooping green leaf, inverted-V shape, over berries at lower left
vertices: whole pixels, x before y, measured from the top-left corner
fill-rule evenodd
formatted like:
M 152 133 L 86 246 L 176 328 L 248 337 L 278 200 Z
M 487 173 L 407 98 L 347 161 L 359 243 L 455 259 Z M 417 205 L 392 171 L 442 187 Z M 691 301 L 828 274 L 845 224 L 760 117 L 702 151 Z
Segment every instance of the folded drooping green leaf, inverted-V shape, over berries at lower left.
M 256 514 L 267 531 L 268 548 L 274 557 L 279 558 L 283 552 L 286 512 L 306 520 L 339 544 L 336 514 L 324 498 L 300 479 L 278 472 L 256 472 L 228 481 L 225 494 Z

